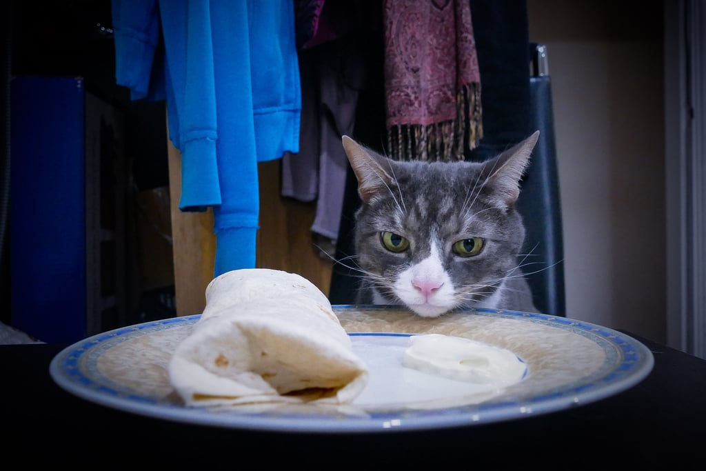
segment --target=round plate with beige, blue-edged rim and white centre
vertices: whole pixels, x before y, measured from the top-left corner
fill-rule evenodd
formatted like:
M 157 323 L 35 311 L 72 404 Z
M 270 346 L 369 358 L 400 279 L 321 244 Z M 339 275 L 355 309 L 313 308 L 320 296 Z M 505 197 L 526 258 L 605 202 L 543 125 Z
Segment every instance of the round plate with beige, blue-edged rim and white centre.
M 634 386 L 654 364 L 638 340 L 570 318 L 487 309 L 434 319 L 382 306 L 334 311 L 370 369 L 369 385 L 346 407 L 184 407 L 165 368 L 198 315 L 86 338 L 59 352 L 49 372 L 80 398 L 150 417 L 236 429 L 373 432 L 484 424 L 576 407 Z M 400 358 L 415 333 L 506 348 L 527 364 L 527 373 L 513 386 L 489 390 L 407 369 Z

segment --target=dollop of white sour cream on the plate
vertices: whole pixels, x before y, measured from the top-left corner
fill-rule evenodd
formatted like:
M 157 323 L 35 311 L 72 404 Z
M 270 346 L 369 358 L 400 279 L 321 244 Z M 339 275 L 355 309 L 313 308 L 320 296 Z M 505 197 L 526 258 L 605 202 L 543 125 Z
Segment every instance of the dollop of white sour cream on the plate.
M 452 335 L 412 335 L 402 366 L 456 381 L 505 388 L 520 381 L 527 365 L 496 345 Z

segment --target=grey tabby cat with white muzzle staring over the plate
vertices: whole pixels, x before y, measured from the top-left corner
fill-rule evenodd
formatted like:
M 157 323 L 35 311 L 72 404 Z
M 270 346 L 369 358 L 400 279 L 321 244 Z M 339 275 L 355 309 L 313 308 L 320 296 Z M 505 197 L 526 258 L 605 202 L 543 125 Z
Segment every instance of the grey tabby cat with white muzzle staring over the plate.
M 519 251 L 519 182 L 539 131 L 487 162 L 395 161 L 343 136 L 358 179 L 358 304 L 423 317 L 486 307 L 537 312 Z

